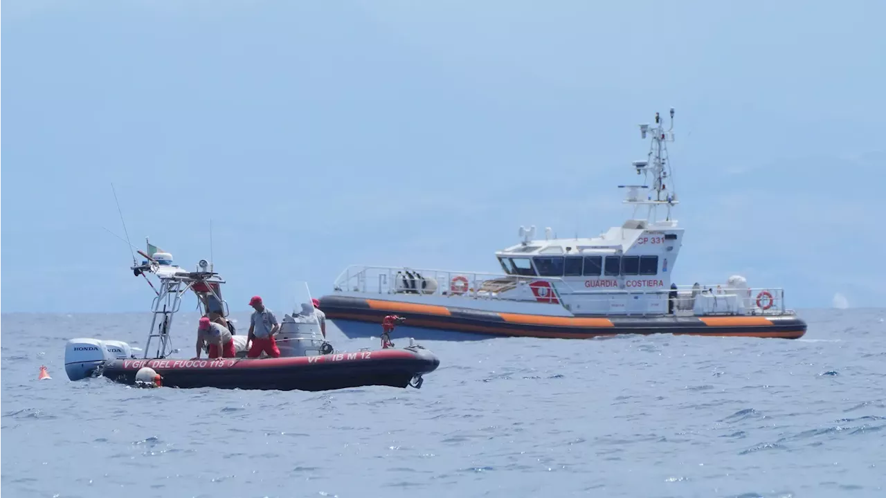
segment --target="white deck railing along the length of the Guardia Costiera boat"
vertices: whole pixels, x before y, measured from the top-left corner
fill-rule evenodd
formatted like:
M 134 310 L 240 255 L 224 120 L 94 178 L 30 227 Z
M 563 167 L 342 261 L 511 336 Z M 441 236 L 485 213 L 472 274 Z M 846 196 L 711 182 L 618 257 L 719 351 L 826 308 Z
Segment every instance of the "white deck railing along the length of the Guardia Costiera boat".
M 457 279 L 457 280 L 456 280 Z M 529 293 L 501 296 L 520 284 L 548 282 L 548 298 Z M 678 285 L 676 289 L 577 288 L 558 277 L 514 276 L 445 269 L 351 266 L 336 280 L 337 291 L 406 293 L 453 298 L 542 301 L 576 315 L 780 315 L 788 313 L 781 288 L 734 288 L 727 284 Z M 676 297 L 672 293 L 676 292 Z M 672 302 L 671 302 L 672 301 Z M 699 305 L 696 306 L 696 301 Z M 758 303 L 759 301 L 759 303 Z

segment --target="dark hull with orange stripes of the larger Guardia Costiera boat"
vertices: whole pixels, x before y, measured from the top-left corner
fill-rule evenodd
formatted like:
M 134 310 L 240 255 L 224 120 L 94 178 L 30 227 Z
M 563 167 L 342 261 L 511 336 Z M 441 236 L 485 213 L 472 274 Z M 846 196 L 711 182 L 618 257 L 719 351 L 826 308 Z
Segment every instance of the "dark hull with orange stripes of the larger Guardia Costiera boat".
M 385 315 L 406 317 L 408 325 L 431 330 L 497 337 L 599 338 L 622 334 L 673 334 L 717 337 L 801 338 L 806 323 L 797 315 L 708 316 L 558 316 L 504 313 L 401 301 L 324 296 L 320 307 L 348 337 L 365 337 L 366 323 Z M 361 326 L 363 324 L 364 326 Z M 410 335 L 413 335 L 410 333 Z M 416 337 L 417 338 L 417 337 Z

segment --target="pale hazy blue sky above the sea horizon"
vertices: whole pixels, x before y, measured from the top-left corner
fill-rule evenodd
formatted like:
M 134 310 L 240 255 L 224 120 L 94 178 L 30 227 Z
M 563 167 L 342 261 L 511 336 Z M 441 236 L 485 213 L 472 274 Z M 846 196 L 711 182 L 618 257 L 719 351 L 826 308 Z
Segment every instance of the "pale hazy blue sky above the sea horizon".
M 231 311 L 348 265 L 596 236 L 675 108 L 680 284 L 880 307 L 882 2 L 0 2 L 0 312 L 148 310 L 144 238 Z M 113 190 L 112 190 L 113 184 Z M 109 232 L 110 230 L 110 232 Z M 192 298 L 191 298 L 192 300 Z M 188 306 L 187 304 L 185 306 Z

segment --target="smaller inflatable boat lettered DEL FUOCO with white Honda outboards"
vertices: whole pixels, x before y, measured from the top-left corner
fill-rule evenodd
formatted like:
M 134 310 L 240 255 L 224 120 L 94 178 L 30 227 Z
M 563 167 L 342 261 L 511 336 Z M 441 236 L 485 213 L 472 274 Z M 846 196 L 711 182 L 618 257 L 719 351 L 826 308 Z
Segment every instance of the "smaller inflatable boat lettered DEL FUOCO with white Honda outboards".
M 150 253 L 152 246 L 148 247 Z M 276 334 L 280 357 L 262 354 L 264 357 L 246 358 L 246 337 L 237 335 L 228 320 L 227 303 L 221 299 L 224 281 L 206 268 L 206 261 L 200 261 L 198 271 L 189 272 L 173 265 L 169 253 L 139 253 L 146 260 L 142 265 L 133 266 L 135 275 L 150 273 L 159 278 L 159 288 L 154 288 L 157 297 L 153 301 L 151 333 L 143 356 L 136 357 L 142 350 L 124 341 L 72 338 L 65 348 L 65 370 L 69 379 L 106 377 L 121 384 L 149 387 L 282 391 L 323 391 L 366 385 L 420 388 L 423 376 L 439 366 L 437 356 L 412 339 L 406 347 L 393 347 L 388 342 L 381 349 L 335 351 L 323 337 L 307 284 L 304 284 L 307 299 L 300 301 L 300 309 L 284 315 L 280 321 L 280 331 Z M 201 315 L 228 324 L 234 334 L 236 357 L 169 357 L 173 316 L 183 294 L 189 290 L 198 296 Z M 196 333 L 195 327 L 189 335 L 194 338 L 192 334 Z M 188 343 L 193 344 L 190 340 Z M 156 349 L 149 358 L 152 346 Z

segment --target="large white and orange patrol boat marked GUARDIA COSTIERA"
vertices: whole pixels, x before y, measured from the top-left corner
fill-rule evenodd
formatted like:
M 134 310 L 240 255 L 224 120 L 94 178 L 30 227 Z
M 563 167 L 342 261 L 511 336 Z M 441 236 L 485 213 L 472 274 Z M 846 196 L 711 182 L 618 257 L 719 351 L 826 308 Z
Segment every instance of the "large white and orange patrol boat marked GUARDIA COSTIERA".
M 669 181 L 671 126 L 640 125 L 651 139 L 633 162 L 643 182 L 619 185 L 633 215 L 598 237 L 554 238 L 521 227 L 522 240 L 495 253 L 503 275 L 421 268 L 349 267 L 320 307 L 346 335 L 385 315 L 422 328 L 493 336 L 594 338 L 615 334 L 800 338 L 806 323 L 785 307 L 779 288 L 750 288 L 742 276 L 722 284 L 676 285 L 671 274 L 684 229 Z M 641 214 L 645 216 L 641 217 Z

